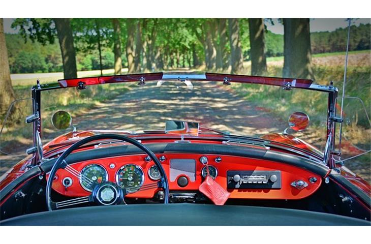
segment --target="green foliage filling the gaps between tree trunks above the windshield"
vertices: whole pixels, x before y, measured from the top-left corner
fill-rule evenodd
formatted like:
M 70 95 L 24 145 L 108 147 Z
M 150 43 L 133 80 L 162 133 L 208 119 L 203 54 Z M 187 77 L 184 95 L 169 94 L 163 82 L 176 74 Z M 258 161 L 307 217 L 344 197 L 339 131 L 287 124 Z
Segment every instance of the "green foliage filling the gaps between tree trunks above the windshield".
M 122 64 L 125 67 L 127 66 L 125 45 L 128 35 L 126 19 L 118 20 L 121 25 Z M 140 21 L 142 26 L 142 43 L 147 41 L 147 49 L 144 51 L 150 52 L 148 54 L 142 51 L 138 55 L 141 56 L 142 62 L 144 57 L 147 59 L 151 58 L 151 62 L 156 63 L 159 63 L 161 59 L 165 69 L 177 67 L 178 62 L 180 67 L 183 64 L 186 67 L 192 66 L 193 54 L 197 55 L 200 64 L 204 63 L 205 31 L 209 28 L 208 24 L 218 22 L 217 19 L 210 18 L 135 19 L 136 23 L 138 21 Z M 269 21 L 269 19 L 266 19 L 266 21 Z M 51 18 L 17 18 L 12 26 L 19 27 L 20 32 L 18 35 L 6 34 L 11 73 L 63 71 L 60 48 L 58 43 L 55 42 L 56 30 Z M 114 66 L 112 19 L 73 18 L 71 20 L 71 27 L 74 35 L 74 46 L 77 50 L 77 69 L 100 69 L 98 30 L 102 50 L 102 69 L 112 69 Z M 248 19 L 239 19 L 239 27 L 243 58 L 244 60 L 249 60 L 250 40 Z M 369 30 L 370 24 L 351 26 L 350 50 L 371 48 Z M 226 31 L 228 35 L 228 28 Z M 317 54 L 344 51 L 346 38 L 347 28 L 338 28 L 334 32 L 312 33 L 312 52 Z M 217 39 L 215 42 L 219 44 L 220 40 Z M 266 31 L 265 45 L 267 60 L 273 60 L 274 57 L 281 58 L 280 56 L 283 56 L 283 35 Z M 226 43 L 224 50 L 224 55 L 228 57 L 230 53 L 229 42 Z M 148 66 L 150 67 L 151 65 Z M 161 66 L 159 69 L 162 69 Z

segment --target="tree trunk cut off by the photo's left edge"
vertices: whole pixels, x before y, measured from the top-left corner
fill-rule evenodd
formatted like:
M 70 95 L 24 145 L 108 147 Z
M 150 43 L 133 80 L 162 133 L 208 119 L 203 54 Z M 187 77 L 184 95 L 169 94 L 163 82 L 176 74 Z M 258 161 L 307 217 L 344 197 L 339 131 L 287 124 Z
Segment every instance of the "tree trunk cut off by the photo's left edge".
M 5 43 L 4 20 L 0 18 L 0 115 L 3 118 L 14 101 L 14 90 L 10 79 L 7 45 Z

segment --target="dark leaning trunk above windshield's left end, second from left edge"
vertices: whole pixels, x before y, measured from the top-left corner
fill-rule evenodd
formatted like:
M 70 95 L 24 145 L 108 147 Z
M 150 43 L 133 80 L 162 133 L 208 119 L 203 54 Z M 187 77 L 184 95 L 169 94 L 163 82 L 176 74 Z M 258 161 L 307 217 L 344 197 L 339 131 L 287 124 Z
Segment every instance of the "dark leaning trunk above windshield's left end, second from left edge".
M 54 18 L 53 20 L 57 29 L 65 79 L 77 78 L 76 51 L 73 45 L 70 19 Z

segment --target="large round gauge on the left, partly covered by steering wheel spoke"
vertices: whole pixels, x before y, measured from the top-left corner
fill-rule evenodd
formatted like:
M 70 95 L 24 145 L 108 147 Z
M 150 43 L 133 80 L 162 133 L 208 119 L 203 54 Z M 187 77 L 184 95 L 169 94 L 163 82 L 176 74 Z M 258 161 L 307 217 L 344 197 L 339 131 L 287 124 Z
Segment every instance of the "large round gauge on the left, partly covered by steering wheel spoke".
M 89 164 L 85 166 L 81 170 L 80 174 L 83 175 L 83 177 L 80 177 L 79 179 L 80 185 L 83 189 L 85 189 L 88 192 L 92 191 L 93 184 L 89 184 L 86 180 L 82 179 L 88 178 L 91 181 L 96 182 L 98 184 L 108 180 L 108 174 L 106 169 L 99 164 Z

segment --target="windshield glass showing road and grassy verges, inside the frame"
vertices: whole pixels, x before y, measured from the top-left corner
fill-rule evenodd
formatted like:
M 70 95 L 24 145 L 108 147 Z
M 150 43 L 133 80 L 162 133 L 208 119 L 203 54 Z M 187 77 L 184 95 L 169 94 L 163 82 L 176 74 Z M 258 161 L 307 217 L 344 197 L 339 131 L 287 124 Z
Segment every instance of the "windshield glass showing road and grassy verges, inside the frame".
M 72 124 L 78 131 L 163 131 L 166 120 L 172 119 L 195 121 L 200 127 L 253 137 L 282 133 L 288 127 L 290 114 L 299 111 L 308 115 L 309 126 L 303 131 L 289 129 L 288 134 L 321 151 L 324 149 L 327 93 L 256 84 L 186 83 L 131 82 L 42 92 L 43 139 L 72 131 L 53 128 L 51 115 L 58 110 L 72 114 Z M 57 102 L 51 103 L 50 98 Z

